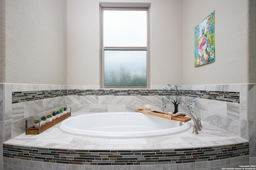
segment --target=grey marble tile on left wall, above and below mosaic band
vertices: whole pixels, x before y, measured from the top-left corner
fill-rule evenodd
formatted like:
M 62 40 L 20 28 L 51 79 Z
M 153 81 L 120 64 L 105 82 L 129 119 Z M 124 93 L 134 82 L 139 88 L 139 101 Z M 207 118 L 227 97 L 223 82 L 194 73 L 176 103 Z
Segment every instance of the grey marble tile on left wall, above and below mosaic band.
M 66 96 L 57 96 L 22 103 L 12 102 L 13 92 L 66 90 L 67 86 L 64 85 L 1 84 L 1 87 L 3 89 L 3 97 L 0 98 L 0 101 L 1 99 L 4 101 L 2 102 L 4 105 L 4 113 L 0 114 L 0 119 L 3 120 L 3 135 L 1 135 L 3 141 L 7 141 L 24 133 L 25 120 L 31 120 L 29 125 L 32 125 L 33 119 L 50 114 L 52 110 L 58 109 L 58 107 L 66 106 Z M 0 90 L 0 96 L 1 94 Z M 1 108 L 0 106 L 0 109 Z

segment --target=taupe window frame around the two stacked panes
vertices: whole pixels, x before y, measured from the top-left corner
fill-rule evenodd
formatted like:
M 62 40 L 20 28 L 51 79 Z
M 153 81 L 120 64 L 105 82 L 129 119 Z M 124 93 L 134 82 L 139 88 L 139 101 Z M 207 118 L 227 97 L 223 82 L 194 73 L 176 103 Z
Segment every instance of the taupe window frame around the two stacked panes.
M 103 46 L 103 10 L 104 9 L 114 9 L 114 10 L 146 10 L 147 11 L 147 47 L 104 47 Z M 100 87 L 103 89 L 148 89 L 150 88 L 150 3 L 109 3 L 109 2 L 101 2 L 100 3 Z M 147 51 L 147 86 L 145 87 L 104 87 L 104 49 L 138 49 L 138 50 L 146 50 Z

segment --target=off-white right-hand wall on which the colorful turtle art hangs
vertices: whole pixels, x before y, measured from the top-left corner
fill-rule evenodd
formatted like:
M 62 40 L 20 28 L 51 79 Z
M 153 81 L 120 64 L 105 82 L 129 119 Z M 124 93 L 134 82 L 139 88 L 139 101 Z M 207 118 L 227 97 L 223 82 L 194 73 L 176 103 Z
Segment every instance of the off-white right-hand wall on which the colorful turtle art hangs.
M 248 0 L 183 1 L 183 84 L 249 82 Z M 214 63 L 194 68 L 194 27 L 215 10 Z

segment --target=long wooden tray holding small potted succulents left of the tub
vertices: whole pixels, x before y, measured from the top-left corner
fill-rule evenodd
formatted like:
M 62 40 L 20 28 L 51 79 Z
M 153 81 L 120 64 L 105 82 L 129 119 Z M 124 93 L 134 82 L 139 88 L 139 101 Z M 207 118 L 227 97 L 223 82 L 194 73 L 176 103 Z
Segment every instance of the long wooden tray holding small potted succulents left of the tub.
M 26 128 L 26 135 L 38 135 L 40 133 L 42 133 L 43 131 L 46 131 L 47 129 L 49 129 L 50 127 L 53 127 L 54 125 L 56 125 L 57 123 L 60 123 L 61 121 L 63 121 L 64 119 L 68 118 L 71 116 L 71 113 L 67 113 L 63 116 L 58 117 L 57 119 L 52 120 L 49 123 L 46 123 L 45 125 L 41 125 L 41 127 L 28 127 Z

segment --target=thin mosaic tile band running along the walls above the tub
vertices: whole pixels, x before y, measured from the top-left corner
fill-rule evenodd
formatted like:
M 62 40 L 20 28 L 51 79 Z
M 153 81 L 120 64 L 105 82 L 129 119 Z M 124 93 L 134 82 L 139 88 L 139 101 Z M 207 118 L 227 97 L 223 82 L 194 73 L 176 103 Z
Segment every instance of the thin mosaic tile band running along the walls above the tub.
M 181 95 L 186 95 L 195 98 L 205 98 L 210 100 L 219 100 L 232 103 L 240 103 L 239 92 L 218 92 L 218 91 L 202 91 L 202 90 L 188 90 L 182 92 L 179 90 Z M 29 91 L 29 92 L 12 92 L 12 104 L 29 102 L 33 100 L 40 100 L 46 98 L 54 98 L 59 96 L 168 96 L 173 95 L 173 91 L 164 90 L 43 90 L 43 91 Z

